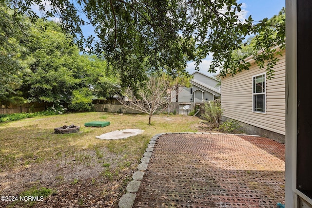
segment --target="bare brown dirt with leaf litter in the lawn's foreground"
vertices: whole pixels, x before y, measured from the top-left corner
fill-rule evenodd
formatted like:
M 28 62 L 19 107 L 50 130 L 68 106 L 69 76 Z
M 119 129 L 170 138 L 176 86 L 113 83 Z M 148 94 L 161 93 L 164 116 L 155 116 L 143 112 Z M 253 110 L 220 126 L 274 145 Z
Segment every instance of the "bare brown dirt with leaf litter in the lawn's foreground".
M 107 153 L 99 160 L 94 151 L 82 151 L 75 157 L 41 164 L 25 166 L 21 163 L 20 168 L 0 173 L 0 195 L 20 196 L 22 191 L 32 187 L 45 187 L 55 193 L 36 203 L 34 208 L 116 207 L 137 165 L 137 161 L 128 161 L 129 167 L 120 168 L 101 162 L 114 164 L 117 158 Z M 29 204 L 0 201 L 0 207 L 9 206 L 28 207 Z

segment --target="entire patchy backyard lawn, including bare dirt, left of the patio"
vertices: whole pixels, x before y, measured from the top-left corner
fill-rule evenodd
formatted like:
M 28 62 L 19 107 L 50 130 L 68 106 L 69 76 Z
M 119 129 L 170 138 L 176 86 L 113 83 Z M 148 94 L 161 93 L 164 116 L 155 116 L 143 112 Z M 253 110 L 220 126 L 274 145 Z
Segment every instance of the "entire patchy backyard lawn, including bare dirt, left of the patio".
M 95 120 L 111 125 L 84 127 Z M 80 131 L 54 134 L 54 128 L 71 124 Z M 117 207 L 153 135 L 196 132 L 200 126 L 192 116 L 155 115 L 149 126 L 144 114 L 99 112 L 1 123 L 0 196 L 8 197 L 0 207 Z M 145 132 L 122 140 L 95 138 L 122 129 Z

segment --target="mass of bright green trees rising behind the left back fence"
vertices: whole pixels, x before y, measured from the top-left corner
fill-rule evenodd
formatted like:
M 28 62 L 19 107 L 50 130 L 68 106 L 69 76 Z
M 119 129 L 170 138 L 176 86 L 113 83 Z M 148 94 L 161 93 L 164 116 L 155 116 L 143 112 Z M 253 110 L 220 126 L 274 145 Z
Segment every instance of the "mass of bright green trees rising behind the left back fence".
M 116 94 L 117 71 L 103 58 L 81 55 L 58 23 L 31 22 L 26 16 L 14 21 L 14 11 L 5 2 L 0 2 L 0 11 L 1 104 L 78 103 L 83 101 L 80 89 L 89 97 Z

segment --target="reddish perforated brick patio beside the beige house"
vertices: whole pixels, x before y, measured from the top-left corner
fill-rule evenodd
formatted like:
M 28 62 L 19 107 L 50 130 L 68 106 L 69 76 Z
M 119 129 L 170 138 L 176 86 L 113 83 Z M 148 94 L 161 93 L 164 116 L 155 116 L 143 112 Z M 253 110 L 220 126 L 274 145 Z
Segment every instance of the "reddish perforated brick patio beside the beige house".
M 133 207 L 276 208 L 284 204 L 285 145 L 225 134 L 156 140 Z

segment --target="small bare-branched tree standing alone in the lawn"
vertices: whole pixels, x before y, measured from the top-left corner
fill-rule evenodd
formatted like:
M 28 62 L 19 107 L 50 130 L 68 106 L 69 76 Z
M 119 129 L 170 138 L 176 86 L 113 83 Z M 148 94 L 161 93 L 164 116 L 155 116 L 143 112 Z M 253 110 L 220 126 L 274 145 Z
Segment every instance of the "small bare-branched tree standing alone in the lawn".
M 163 113 L 171 102 L 169 81 L 161 77 L 150 77 L 143 87 L 139 87 L 137 92 L 128 87 L 123 95 L 128 98 L 126 101 L 119 97 L 119 102 L 128 109 L 147 113 L 149 115 L 148 124 L 151 125 L 153 114 Z

